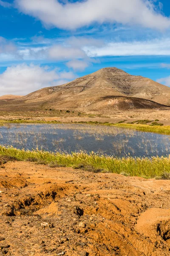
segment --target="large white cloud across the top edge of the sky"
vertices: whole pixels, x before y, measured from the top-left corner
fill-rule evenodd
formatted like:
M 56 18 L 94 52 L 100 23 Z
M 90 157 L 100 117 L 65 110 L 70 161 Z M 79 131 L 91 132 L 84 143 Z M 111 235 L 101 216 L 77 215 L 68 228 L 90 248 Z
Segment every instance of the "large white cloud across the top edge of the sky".
M 77 29 L 94 22 L 135 24 L 153 29 L 170 26 L 170 18 L 160 14 L 149 0 L 84 0 L 65 4 L 58 0 L 15 0 L 15 5 L 47 26 L 62 29 Z

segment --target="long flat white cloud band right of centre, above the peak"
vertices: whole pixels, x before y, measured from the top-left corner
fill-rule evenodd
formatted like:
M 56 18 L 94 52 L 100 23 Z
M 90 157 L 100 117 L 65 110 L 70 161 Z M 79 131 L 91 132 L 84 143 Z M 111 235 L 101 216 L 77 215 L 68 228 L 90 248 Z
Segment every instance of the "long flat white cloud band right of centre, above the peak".
M 113 42 L 105 47 L 84 47 L 89 57 L 170 55 L 170 38 L 151 41 Z

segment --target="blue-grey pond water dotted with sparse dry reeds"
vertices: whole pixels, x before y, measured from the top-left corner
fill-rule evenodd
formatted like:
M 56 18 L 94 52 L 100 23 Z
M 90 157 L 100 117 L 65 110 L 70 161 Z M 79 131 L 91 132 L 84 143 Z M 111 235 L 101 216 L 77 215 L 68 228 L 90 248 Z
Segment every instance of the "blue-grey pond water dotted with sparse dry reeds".
M 170 136 L 114 126 L 82 124 L 10 124 L 0 128 L 2 145 L 45 151 L 94 151 L 123 156 L 170 154 Z

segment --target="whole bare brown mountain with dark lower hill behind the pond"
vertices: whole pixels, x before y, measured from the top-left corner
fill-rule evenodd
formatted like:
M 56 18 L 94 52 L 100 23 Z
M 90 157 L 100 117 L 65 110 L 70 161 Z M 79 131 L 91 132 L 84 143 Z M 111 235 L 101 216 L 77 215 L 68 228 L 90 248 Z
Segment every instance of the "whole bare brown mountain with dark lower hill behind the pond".
M 3 105 L 1 105 L 1 110 Z M 56 109 L 86 113 L 112 110 L 167 108 L 170 88 L 116 67 L 103 68 L 67 84 L 46 87 L 11 102 L 6 109 L 29 111 Z

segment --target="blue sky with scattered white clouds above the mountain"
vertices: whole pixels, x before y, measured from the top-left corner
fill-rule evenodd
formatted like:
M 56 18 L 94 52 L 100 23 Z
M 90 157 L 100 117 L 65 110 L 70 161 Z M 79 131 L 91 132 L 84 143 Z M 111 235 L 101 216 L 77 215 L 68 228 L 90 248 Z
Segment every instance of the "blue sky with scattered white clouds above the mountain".
M 0 0 L 0 95 L 104 67 L 170 86 L 169 0 Z

